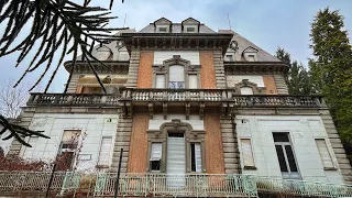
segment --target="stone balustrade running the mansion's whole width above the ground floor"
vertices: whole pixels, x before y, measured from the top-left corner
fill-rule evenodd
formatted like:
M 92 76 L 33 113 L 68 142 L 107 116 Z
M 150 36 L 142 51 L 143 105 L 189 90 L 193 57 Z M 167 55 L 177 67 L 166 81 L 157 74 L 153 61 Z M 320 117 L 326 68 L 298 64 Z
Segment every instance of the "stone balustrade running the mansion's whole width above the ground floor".
M 117 107 L 133 102 L 231 102 L 238 108 L 319 108 L 322 96 L 235 95 L 230 89 L 125 89 L 121 95 L 103 94 L 31 94 L 28 106 Z

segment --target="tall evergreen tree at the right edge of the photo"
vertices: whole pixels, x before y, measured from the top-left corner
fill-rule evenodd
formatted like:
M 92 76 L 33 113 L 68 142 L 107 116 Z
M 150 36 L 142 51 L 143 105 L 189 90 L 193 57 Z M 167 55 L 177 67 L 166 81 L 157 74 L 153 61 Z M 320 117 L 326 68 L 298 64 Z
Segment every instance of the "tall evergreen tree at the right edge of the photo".
M 310 36 L 314 85 L 326 96 L 342 141 L 352 143 L 352 52 L 343 16 L 329 8 L 320 10 Z

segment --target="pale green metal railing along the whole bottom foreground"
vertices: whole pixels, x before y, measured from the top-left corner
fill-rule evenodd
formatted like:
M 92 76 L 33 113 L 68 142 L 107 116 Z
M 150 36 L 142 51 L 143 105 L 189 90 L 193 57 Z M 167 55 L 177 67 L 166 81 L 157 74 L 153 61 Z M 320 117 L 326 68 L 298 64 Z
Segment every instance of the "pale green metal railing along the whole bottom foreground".
M 44 195 L 51 172 L 0 172 L 1 196 Z M 51 191 L 111 197 L 116 173 L 55 173 Z M 352 186 L 237 174 L 122 174 L 119 196 L 127 197 L 352 197 Z M 38 196 L 37 196 L 38 197 Z

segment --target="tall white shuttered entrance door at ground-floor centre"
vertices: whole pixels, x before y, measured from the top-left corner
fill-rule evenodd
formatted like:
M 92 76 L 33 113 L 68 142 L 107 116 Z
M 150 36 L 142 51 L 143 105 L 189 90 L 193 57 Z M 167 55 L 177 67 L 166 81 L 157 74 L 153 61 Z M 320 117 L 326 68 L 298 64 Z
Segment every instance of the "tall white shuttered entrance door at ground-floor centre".
M 186 185 L 186 156 L 184 133 L 168 133 L 166 173 L 167 187 L 169 189 L 182 189 Z

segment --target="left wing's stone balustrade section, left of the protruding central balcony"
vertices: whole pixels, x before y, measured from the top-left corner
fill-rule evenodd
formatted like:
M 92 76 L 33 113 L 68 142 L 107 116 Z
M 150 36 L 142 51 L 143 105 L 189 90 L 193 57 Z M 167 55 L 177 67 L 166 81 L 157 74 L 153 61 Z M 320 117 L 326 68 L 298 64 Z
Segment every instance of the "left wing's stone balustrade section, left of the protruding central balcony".
M 118 106 L 118 95 L 102 94 L 38 94 L 32 92 L 28 106 Z

